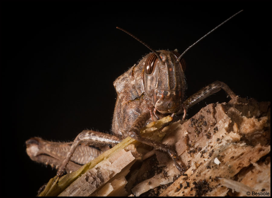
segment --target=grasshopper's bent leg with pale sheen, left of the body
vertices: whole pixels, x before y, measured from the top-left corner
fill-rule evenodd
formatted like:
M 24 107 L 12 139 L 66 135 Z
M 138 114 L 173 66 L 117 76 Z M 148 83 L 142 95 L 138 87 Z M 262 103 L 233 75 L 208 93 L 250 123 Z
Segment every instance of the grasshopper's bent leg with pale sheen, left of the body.
M 101 133 L 97 131 L 91 131 L 91 130 L 84 130 L 81 133 L 76 136 L 76 139 L 74 140 L 72 146 L 70 147 L 69 152 L 67 153 L 65 159 L 63 160 L 62 164 L 60 165 L 59 170 L 57 171 L 57 176 L 60 177 L 64 174 L 65 168 L 70 161 L 73 153 L 75 152 L 76 148 L 80 143 L 83 142 L 98 142 L 98 143 L 104 143 L 104 144 L 118 144 L 121 142 L 122 139 L 106 134 L 106 133 Z

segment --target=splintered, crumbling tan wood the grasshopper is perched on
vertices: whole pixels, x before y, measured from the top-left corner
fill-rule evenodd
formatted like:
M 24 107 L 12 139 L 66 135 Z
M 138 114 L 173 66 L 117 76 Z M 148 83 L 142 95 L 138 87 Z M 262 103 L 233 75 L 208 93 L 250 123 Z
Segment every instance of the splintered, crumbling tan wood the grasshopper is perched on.
M 184 174 L 164 152 L 125 139 L 127 143 L 120 143 L 124 144 L 122 148 L 111 154 L 104 152 L 102 155 L 109 157 L 101 157 L 85 173 L 78 174 L 79 178 L 67 184 L 59 195 L 246 196 L 252 191 L 270 193 L 270 102 L 258 103 L 254 99 L 236 97 L 228 103 L 209 104 L 189 120 L 160 129 L 168 121 L 150 124 L 144 133 L 156 141 L 164 137 L 162 142 L 175 148 L 180 165 L 188 167 Z

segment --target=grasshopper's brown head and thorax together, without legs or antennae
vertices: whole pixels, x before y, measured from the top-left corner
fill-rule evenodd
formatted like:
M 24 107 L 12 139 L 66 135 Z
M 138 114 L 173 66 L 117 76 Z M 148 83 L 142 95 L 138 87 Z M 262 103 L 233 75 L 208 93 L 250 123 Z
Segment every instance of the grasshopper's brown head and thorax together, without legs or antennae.
M 163 64 L 160 65 L 159 61 L 154 63 L 156 66 L 152 74 L 146 75 L 144 72 L 147 59 L 153 54 L 150 53 L 138 65 L 134 65 L 114 81 L 118 94 L 112 121 L 112 132 L 115 135 L 128 136 L 128 131 L 136 118 L 144 112 L 153 112 L 156 104 L 157 108 L 168 109 L 166 112 L 157 113 L 158 118 L 164 117 L 164 113 L 173 113 L 171 109 L 173 107 L 178 110 L 181 108 L 186 89 L 182 69 L 185 65 L 175 64 L 177 55 L 173 52 L 160 50 L 158 53 L 163 58 Z M 183 59 L 182 61 L 184 62 Z M 176 103 L 170 104 L 170 108 L 161 107 L 165 105 L 163 102 L 169 105 L 171 103 L 169 101 Z M 154 121 L 153 116 L 146 121 L 146 124 L 152 121 Z

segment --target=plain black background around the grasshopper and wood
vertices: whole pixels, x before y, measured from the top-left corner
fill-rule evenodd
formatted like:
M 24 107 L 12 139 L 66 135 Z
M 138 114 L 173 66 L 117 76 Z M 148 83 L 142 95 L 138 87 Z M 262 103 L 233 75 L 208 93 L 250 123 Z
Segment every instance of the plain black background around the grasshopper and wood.
M 220 80 L 241 97 L 270 101 L 271 4 L 262 1 L 1 3 L 2 181 L 4 193 L 36 195 L 56 171 L 30 160 L 35 136 L 71 141 L 83 129 L 110 131 L 115 78 L 149 49 L 183 52 L 192 95 Z M 228 101 L 223 91 L 189 110 Z M 3 187 L 3 186 L 2 186 Z

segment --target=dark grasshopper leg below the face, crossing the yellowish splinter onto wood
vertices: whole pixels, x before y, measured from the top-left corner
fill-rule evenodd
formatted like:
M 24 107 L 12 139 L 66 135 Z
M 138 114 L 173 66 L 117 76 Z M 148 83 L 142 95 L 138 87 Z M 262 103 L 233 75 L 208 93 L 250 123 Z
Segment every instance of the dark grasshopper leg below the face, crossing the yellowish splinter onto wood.
M 144 126 L 144 124 L 146 123 L 146 121 L 149 118 L 150 118 L 149 112 L 144 112 L 140 116 L 138 116 L 138 118 L 132 124 L 131 129 L 128 132 L 128 135 L 131 138 L 136 139 L 139 142 L 142 142 L 144 144 L 154 147 L 154 149 L 162 150 L 162 151 L 166 152 L 173 159 L 173 161 L 176 165 L 176 168 L 180 172 L 185 172 L 186 168 L 181 168 L 180 165 L 176 161 L 176 158 L 177 158 L 176 152 L 173 151 L 172 149 L 170 149 L 170 147 L 168 145 L 165 145 L 160 142 L 151 142 L 150 139 L 144 138 L 140 135 L 141 128 Z

